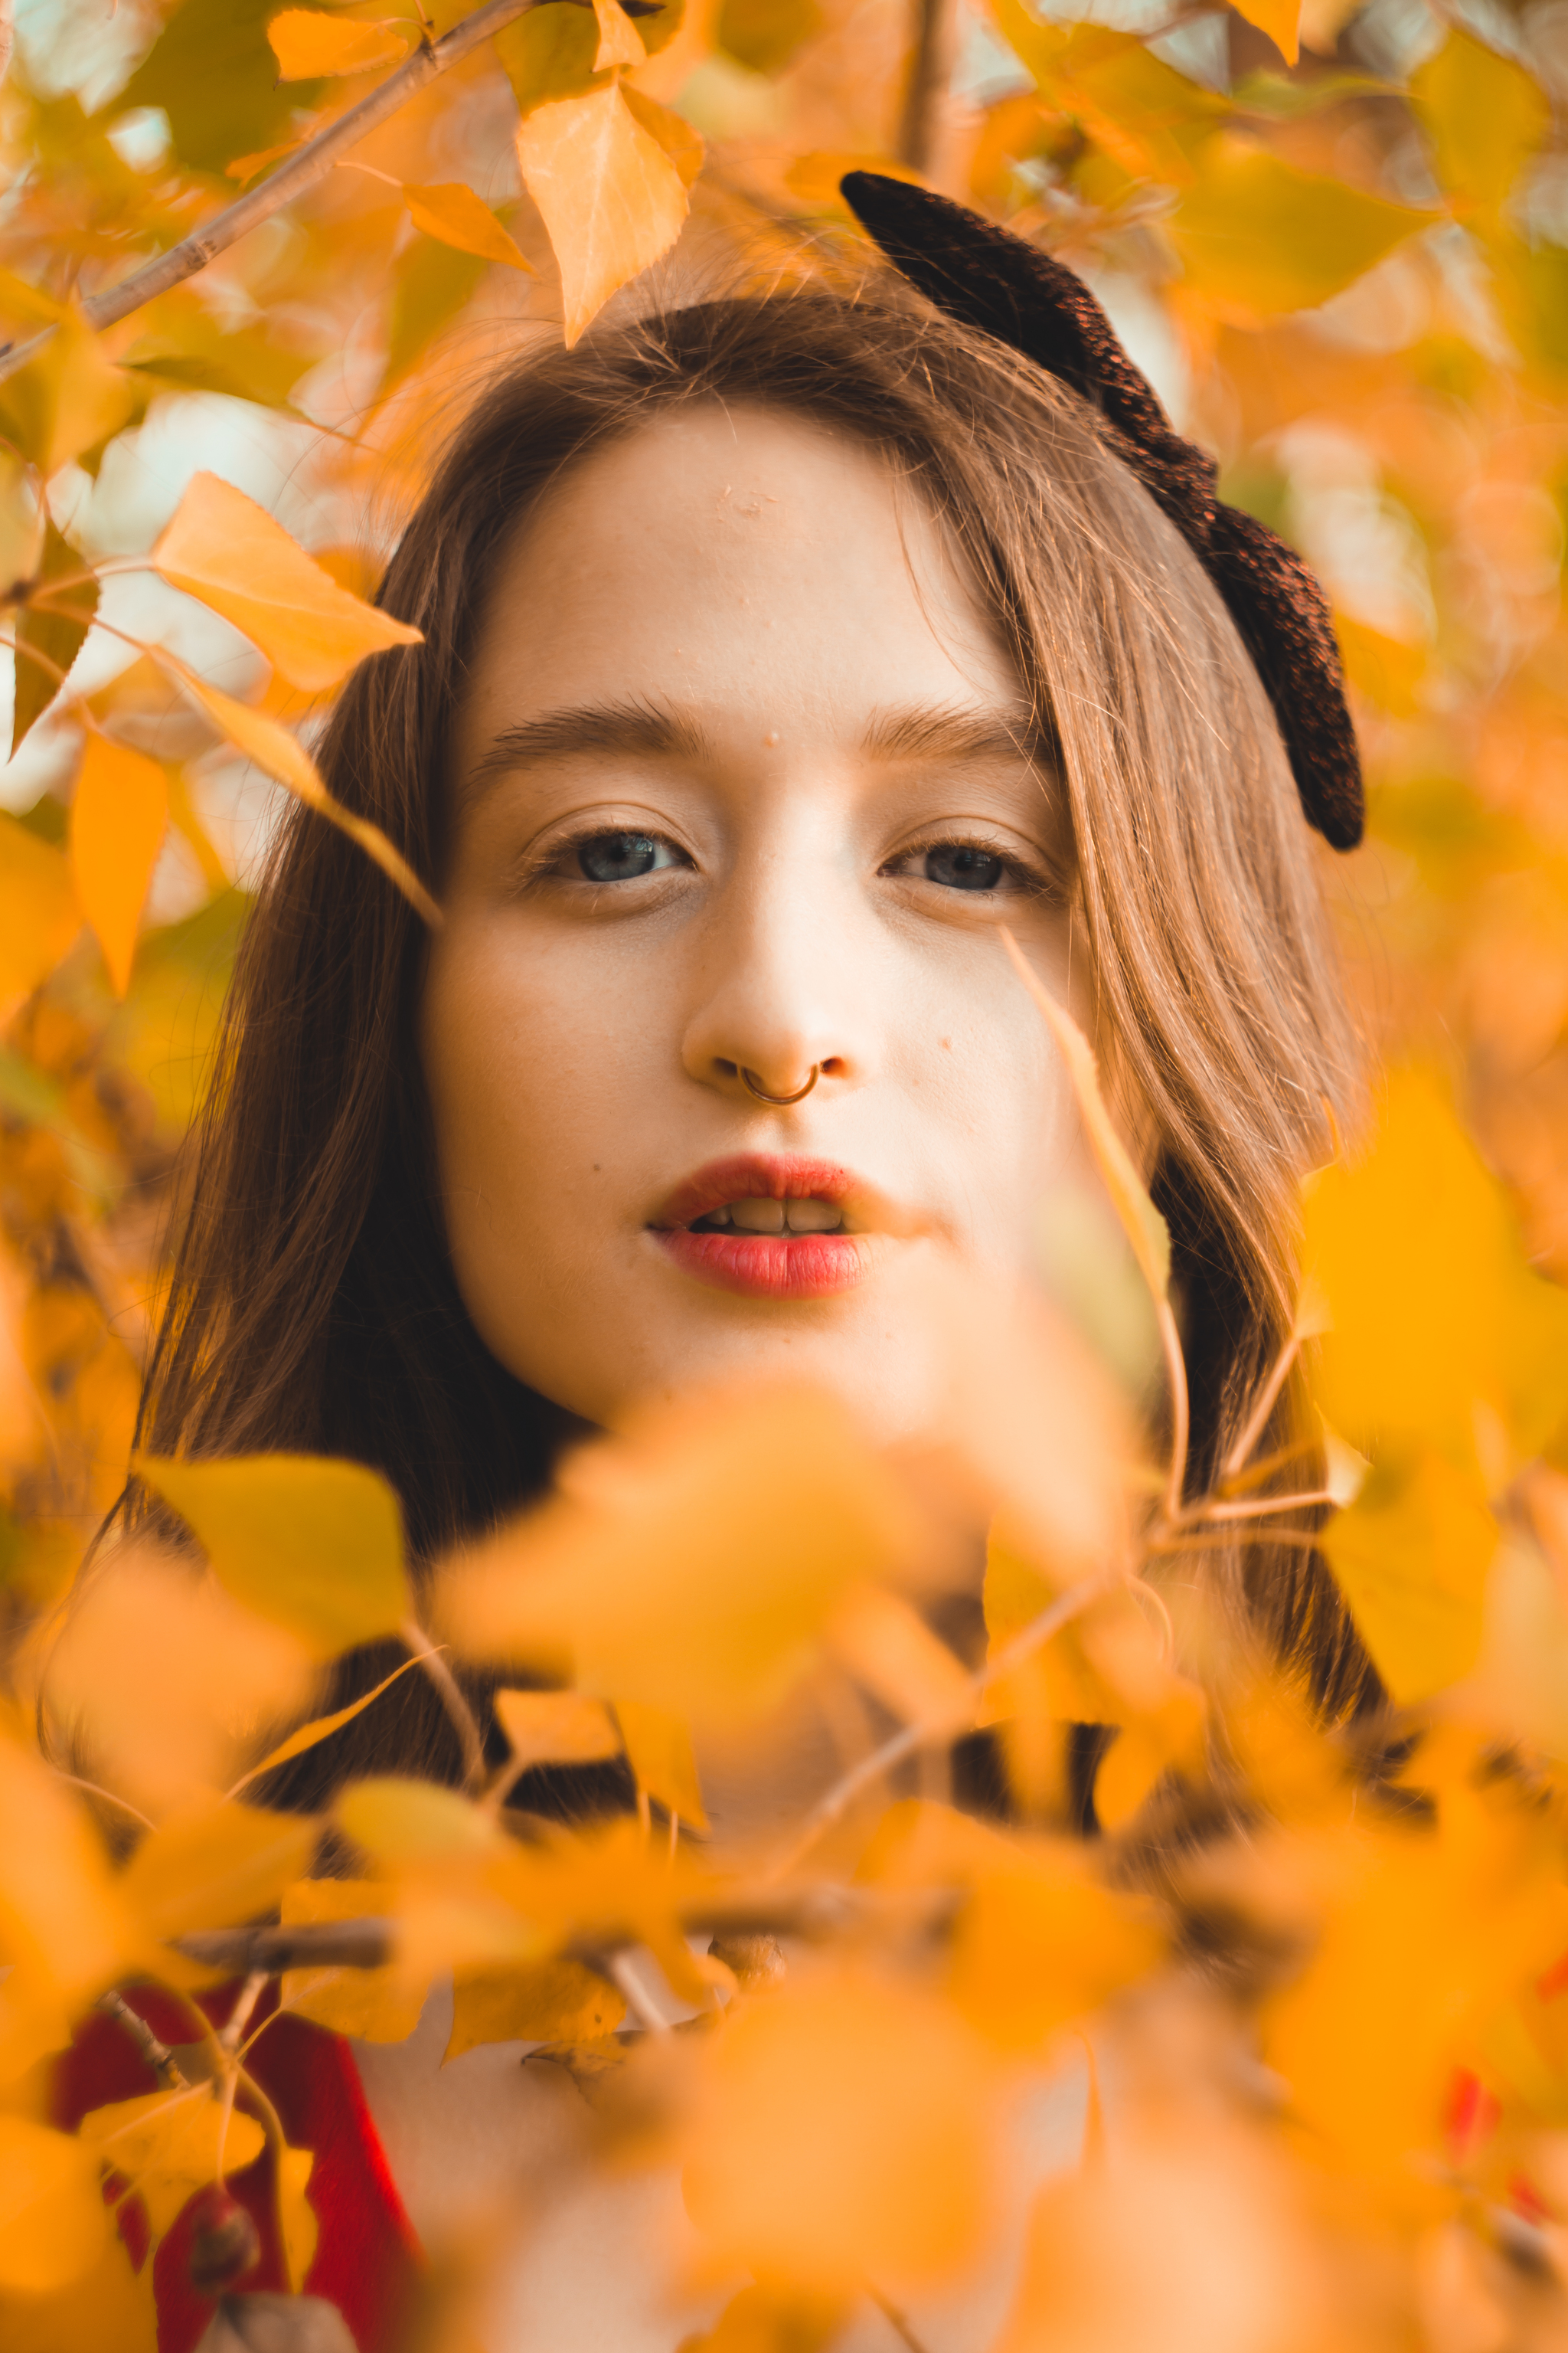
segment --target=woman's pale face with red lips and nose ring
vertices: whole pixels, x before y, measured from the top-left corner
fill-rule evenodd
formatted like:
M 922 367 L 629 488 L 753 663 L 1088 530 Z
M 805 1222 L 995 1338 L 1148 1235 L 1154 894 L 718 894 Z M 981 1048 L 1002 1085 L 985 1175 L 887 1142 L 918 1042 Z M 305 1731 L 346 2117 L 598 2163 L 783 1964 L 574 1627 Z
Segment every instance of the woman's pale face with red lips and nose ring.
M 658 414 L 501 562 L 454 753 L 421 1054 L 494 1355 L 597 1424 L 790 1374 L 917 1438 L 933 1261 L 1030 1278 L 1079 1155 L 999 936 L 1065 988 L 1058 805 L 943 532 L 851 440 Z

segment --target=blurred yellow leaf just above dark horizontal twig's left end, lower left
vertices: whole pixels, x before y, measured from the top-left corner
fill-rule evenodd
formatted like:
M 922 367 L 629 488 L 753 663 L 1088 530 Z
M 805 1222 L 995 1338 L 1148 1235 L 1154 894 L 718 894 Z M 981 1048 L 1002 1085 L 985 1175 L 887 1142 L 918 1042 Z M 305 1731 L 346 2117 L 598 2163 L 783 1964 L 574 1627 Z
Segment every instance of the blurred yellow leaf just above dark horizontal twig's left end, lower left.
M 195 1805 L 143 1838 L 120 1875 L 120 1894 L 158 1944 L 200 1927 L 256 1920 L 299 1880 L 320 1828 L 299 1814 L 249 1805 Z

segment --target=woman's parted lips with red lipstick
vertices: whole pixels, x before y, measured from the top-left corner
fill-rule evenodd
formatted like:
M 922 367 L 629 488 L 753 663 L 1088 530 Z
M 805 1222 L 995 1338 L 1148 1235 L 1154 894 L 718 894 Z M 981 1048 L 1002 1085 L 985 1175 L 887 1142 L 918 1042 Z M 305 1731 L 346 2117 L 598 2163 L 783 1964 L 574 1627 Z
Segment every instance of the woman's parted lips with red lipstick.
M 839 1205 L 844 1221 L 858 1231 L 691 1233 L 696 1219 L 736 1200 L 825 1200 Z M 835 1160 L 731 1153 L 675 1186 L 649 1219 L 649 1231 L 682 1273 L 710 1289 L 738 1292 L 745 1299 L 832 1299 L 863 1282 L 872 1268 L 879 1235 L 867 1226 L 882 1224 L 875 1209 L 875 1188 Z

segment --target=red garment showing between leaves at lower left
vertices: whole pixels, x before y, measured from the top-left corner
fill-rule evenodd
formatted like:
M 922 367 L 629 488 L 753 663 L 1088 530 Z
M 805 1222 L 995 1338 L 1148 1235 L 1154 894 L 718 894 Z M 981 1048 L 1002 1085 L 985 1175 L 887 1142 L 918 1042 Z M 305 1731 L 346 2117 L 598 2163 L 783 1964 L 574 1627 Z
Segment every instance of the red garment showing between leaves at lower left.
M 155 1986 L 132 1986 L 125 1998 L 160 2042 L 195 2040 L 190 2014 L 174 1995 Z M 200 2007 L 221 2024 L 233 1998 L 235 1988 L 221 1986 L 216 1993 L 205 1993 Z M 266 2017 L 266 2002 L 256 2017 Z M 277 2108 L 284 2141 L 292 2148 L 315 2151 L 306 2195 L 320 2224 L 320 2240 L 306 2294 L 339 2306 L 360 2353 L 393 2353 L 411 2311 L 421 2252 L 364 2106 L 348 2042 L 284 2012 L 256 2040 L 244 2068 Z M 158 2075 L 136 2049 L 129 2028 L 99 2009 L 82 2021 L 71 2049 L 56 2061 L 54 2120 L 71 2132 L 89 2108 L 155 2089 Z M 289 2285 L 277 2238 L 273 2172 L 273 2151 L 266 2148 L 244 2172 L 228 2179 L 228 2188 L 249 2207 L 261 2235 L 261 2259 L 233 2282 L 237 2289 Z M 122 2207 L 120 2231 L 132 2257 L 141 2261 L 148 2233 L 136 2200 Z M 186 2207 L 153 2259 L 158 2353 L 193 2353 L 212 2320 L 212 2297 L 197 2294 L 188 2278 L 190 2231 L 193 2217 Z

